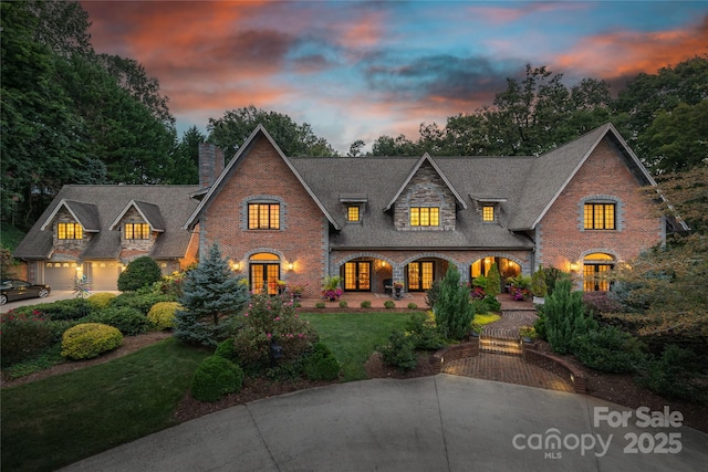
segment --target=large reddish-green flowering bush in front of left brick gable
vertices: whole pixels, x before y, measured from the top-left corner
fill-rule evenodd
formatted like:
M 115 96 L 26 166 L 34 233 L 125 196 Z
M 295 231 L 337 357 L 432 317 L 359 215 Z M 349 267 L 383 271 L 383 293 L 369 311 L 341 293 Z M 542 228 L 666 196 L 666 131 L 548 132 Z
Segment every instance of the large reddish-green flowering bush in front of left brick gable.
M 252 295 L 241 316 L 243 325 L 235 336 L 238 358 L 247 369 L 261 369 L 270 364 L 270 347 L 277 342 L 283 349 L 281 364 L 312 350 L 317 333 L 305 319 L 300 318 L 292 302 L 268 294 Z

